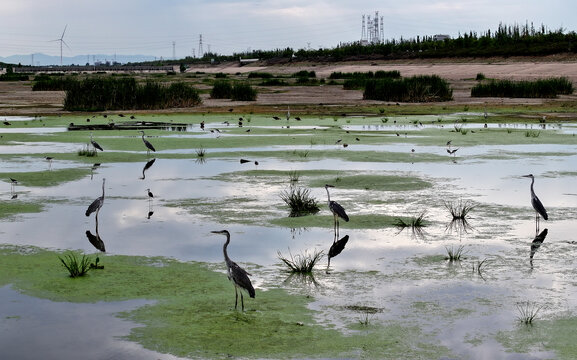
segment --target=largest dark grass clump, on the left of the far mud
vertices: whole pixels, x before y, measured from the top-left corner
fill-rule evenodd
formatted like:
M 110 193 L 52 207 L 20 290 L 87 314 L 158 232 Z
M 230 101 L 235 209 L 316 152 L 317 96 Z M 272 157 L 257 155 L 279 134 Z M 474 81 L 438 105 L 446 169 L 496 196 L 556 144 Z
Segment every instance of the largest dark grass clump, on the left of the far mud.
M 148 81 L 141 85 L 133 77 L 95 77 L 71 80 L 66 90 L 64 109 L 69 111 L 154 110 L 191 107 L 200 103 L 198 91 L 183 82 L 163 85 Z

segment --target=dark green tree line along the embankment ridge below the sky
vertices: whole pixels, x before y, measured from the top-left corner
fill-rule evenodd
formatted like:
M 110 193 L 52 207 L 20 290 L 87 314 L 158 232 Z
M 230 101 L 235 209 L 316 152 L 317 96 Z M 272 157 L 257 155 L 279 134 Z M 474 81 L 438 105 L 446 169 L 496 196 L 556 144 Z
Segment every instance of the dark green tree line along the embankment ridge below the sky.
M 383 43 L 363 44 L 360 41 L 339 44 L 334 48 L 300 49 L 290 47 L 274 50 L 253 50 L 233 55 L 204 54 L 202 58 L 186 57 L 181 60 L 164 60 L 171 63 L 206 63 L 236 61 L 239 58 L 257 58 L 273 61 L 342 61 L 355 59 L 404 59 L 445 57 L 492 57 L 492 56 L 545 56 L 577 52 L 577 34 L 564 29 L 550 30 L 533 23 L 505 25 L 497 30 L 483 33 L 469 31 L 456 38 L 435 40 L 432 35 L 408 39 L 392 39 Z M 157 62 L 157 64 L 161 64 Z

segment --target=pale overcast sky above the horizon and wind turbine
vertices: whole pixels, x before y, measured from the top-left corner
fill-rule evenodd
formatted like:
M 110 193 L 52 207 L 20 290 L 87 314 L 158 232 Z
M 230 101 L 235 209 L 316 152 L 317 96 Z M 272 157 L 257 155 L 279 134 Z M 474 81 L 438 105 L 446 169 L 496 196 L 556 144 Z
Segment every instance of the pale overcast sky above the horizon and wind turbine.
M 0 56 L 141 54 L 177 58 L 361 39 L 362 15 L 383 17 L 385 39 L 494 30 L 533 22 L 577 31 L 575 0 L 2 0 Z

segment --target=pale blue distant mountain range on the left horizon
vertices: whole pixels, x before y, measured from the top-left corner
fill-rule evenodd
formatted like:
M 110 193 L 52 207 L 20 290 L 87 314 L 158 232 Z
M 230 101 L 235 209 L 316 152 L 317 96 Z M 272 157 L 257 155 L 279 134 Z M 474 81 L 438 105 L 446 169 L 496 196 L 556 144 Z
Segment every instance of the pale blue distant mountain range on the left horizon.
M 150 55 L 76 55 L 76 56 L 63 56 L 62 65 L 94 65 L 95 62 L 106 63 L 106 62 L 117 62 L 121 64 L 126 63 L 137 63 L 143 61 L 154 61 L 159 58 Z M 0 56 L 0 62 L 7 64 L 21 64 L 21 65 L 34 65 L 34 66 L 48 66 L 48 65 L 60 65 L 60 56 L 52 56 L 46 54 L 29 54 L 29 55 L 11 55 L 7 57 Z M 34 63 L 32 63 L 34 62 Z

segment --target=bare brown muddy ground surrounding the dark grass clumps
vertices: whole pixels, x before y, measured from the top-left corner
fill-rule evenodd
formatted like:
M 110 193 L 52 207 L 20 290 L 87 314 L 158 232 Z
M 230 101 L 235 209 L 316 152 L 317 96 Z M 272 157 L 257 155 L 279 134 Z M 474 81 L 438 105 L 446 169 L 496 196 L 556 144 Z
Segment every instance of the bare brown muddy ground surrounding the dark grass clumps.
M 453 101 L 442 103 L 443 106 L 518 106 L 518 105 L 553 105 L 574 107 L 577 95 L 561 96 L 557 99 L 511 99 L 511 98 L 472 98 L 471 88 L 476 84 L 479 73 L 488 79 L 530 80 L 549 77 L 567 77 L 577 84 L 577 59 L 575 58 L 543 58 L 543 59 L 488 59 L 460 60 L 458 62 L 433 61 L 396 61 L 396 62 L 347 62 L 347 63 L 292 63 L 288 65 L 246 65 L 240 67 L 236 63 L 214 66 L 191 67 L 187 74 L 226 73 L 230 75 L 251 71 L 270 72 L 273 74 L 293 74 L 300 70 L 315 71 L 317 79 L 328 78 L 335 71 L 365 72 L 377 70 L 398 70 L 402 76 L 439 75 L 447 79 L 453 88 Z M 184 74 L 186 75 L 186 74 Z M 180 75 L 179 75 L 180 76 Z M 65 114 L 62 109 L 64 92 L 43 91 L 33 92 L 30 82 L 0 82 L 0 116 L 1 115 L 36 115 Z M 254 102 L 232 102 L 227 99 L 210 99 L 203 94 L 203 104 L 190 109 L 171 109 L 179 112 L 220 112 L 234 109 L 244 112 L 274 112 L 292 109 L 302 113 L 319 113 L 341 111 L 343 107 L 397 105 L 380 101 L 363 100 L 361 91 L 343 90 L 342 86 L 277 86 L 258 89 L 258 99 Z M 400 106 L 405 104 L 399 104 Z M 166 111 L 164 111 L 166 112 Z M 566 112 L 566 111 L 565 111 Z M 575 112 L 575 111 L 574 111 Z

